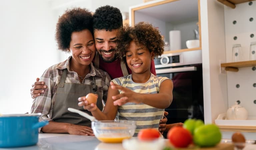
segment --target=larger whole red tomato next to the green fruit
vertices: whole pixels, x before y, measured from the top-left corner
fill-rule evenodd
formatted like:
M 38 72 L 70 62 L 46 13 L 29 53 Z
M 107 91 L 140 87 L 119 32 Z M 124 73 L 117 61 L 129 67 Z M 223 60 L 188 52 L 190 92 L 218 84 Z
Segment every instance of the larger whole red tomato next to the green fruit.
M 181 126 L 172 127 L 167 133 L 167 138 L 175 147 L 187 147 L 193 139 L 190 131 Z

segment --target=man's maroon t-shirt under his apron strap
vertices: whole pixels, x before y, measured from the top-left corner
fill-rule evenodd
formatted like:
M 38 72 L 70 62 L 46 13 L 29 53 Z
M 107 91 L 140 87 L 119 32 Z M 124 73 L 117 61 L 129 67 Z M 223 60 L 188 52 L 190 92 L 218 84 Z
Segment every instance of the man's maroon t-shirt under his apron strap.
M 104 62 L 101 57 L 99 57 L 99 69 L 106 71 L 109 76 L 111 77 L 111 79 L 114 78 L 119 78 L 119 77 L 123 77 L 123 73 L 122 73 L 122 69 L 121 69 L 121 60 L 117 59 L 113 62 Z M 93 59 L 93 63 L 94 63 L 94 59 Z M 125 62 L 128 74 L 131 74 L 132 71 L 131 69 L 127 66 L 127 63 Z M 155 62 L 154 60 L 151 61 L 151 67 L 150 67 L 150 71 L 151 73 L 153 73 L 154 75 L 156 75 L 156 69 L 155 69 Z

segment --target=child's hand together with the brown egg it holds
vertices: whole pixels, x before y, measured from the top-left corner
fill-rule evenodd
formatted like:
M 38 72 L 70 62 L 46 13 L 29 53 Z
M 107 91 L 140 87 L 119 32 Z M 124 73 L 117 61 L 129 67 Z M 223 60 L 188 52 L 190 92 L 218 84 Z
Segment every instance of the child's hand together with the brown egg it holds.
M 83 106 L 85 110 L 94 111 L 97 109 L 98 95 L 94 93 L 88 93 L 86 96 L 78 98 L 78 106 Z

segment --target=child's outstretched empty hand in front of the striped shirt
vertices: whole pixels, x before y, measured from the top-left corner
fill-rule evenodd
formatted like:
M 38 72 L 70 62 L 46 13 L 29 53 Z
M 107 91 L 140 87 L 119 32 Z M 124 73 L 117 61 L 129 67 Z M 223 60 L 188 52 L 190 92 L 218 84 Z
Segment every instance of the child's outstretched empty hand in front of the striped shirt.
M 139 94 L 136 92 L 133 92 L 132 90 L 122 87 L 120 85 L 114 84 L 113 82 L 110 82 L 110 86 L 112 89 L 117 89 L 117 90 L 121 90 L 123 91 L 122 94 L 118 94 L 118 95 L 114 95 L 112 96 L 112 99 L 115 100 L 114 101 L 114 105 L 118 105 L 121 106 L 125 103 L 128 102 L 133 102 L 136 104 L 141 103 L 140 102 L 140 98 L 139 98 Z

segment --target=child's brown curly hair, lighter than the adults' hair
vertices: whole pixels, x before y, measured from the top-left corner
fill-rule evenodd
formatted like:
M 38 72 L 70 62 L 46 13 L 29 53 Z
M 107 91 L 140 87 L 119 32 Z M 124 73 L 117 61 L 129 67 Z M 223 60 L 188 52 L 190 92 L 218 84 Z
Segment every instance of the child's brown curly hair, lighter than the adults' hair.
M 154 57 L 160 56 L 164 52 L 164 41 L 158 29 L 151 24 L 139 22 L 134 27 L 124 27 L 119 29 L 117 38 L 118 57 L 125 59 L 130 42 L 134 41 L 141 48 L 147 48 L 154 53 Z

